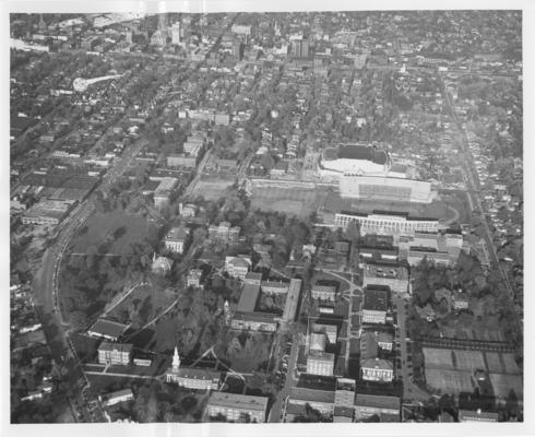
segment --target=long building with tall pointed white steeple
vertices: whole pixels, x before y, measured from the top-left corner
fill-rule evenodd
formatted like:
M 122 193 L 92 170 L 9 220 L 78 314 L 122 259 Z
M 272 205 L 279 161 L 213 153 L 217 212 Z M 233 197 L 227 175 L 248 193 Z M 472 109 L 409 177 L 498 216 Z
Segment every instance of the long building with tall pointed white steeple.
M 180 356 L 175 347 L 171 367 L 165 374 L 166 382 L 178 383 L 193 390 L 218 390 L 222 373 L 209 368 L 180 367 Z

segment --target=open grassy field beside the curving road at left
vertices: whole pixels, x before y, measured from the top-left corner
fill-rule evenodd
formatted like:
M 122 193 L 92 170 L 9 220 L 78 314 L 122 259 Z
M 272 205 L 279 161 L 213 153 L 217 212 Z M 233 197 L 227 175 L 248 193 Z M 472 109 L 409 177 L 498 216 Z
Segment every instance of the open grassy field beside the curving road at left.
M 148 235 L 152 224 L 141 215 L 131 215 L 123 210 L 115 210 L 107 213 L 95 213 L 85 222 L 85 227 L 72 239 L 70 251 L 75 253 L 86 253 L 91 246 L 98 247 L 108 237 L 115 239 L 109 249 L 111 253 L 127 253 L 129 246 L 134 241 L 140 241 Z M 119 232 L 124 227 L 123 231 Z M 117 238 L 114 233 L 117 231 Z

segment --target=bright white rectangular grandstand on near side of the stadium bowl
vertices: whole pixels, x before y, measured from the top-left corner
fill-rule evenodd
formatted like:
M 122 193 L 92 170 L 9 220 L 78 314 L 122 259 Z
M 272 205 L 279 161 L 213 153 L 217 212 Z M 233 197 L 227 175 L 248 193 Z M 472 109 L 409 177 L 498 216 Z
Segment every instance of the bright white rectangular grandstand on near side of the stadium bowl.
M 340 194 L 350 199 L 430 203 L 431 184 L 385 176 L 348 176 L 340 178 Z

